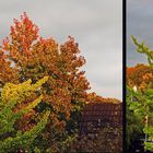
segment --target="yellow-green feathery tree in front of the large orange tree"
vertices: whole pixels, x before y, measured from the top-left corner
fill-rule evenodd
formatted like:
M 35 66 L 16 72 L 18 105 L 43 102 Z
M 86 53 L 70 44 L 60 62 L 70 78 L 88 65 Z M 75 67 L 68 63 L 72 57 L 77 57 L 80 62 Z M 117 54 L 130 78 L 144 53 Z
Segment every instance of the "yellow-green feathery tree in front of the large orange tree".
M 27 80 L 21 84 L 7 83 L 0 96 L 0 152 L 16 152 L 17 150 L 31 151 L 33 142 L 36 137 L 45 128 L 50 110 L 46 109 L 39 115 L 39 121 L 31 127 L 27 131 L 23 132 L 16 127 L 17 119 L 35 111 L 35 107 L 42 102 L 43 95 L 39 95 L 32 103 L 25 107 L 16 110 L 16 106 L 22 104 L 26 98 L 36 92 L 48 78 L 44 78 L 31 84 L 32 81 Z

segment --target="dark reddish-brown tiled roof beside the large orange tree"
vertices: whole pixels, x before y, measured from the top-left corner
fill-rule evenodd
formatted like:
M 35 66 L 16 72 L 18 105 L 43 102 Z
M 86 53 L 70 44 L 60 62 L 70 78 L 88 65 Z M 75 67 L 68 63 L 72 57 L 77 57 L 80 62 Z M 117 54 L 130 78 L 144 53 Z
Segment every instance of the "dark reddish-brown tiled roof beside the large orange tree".
M 90 125 L 93 126 L 93 129 L 106 126 L 121 127 L 122 103 L 86 104 L 81 117 L 81 134 L 89 132 Z

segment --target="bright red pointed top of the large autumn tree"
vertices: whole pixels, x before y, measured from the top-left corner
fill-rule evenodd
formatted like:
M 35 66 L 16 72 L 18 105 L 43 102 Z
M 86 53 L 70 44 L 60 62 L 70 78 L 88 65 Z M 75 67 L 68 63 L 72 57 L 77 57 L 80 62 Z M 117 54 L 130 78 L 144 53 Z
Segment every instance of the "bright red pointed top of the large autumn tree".
M 10 35 L 12 44 L 20 47 L 20 51 L 28 51 L 33 42 L 38 38 L 38 27 L 23 13 L 21 21 L 14 19 Z

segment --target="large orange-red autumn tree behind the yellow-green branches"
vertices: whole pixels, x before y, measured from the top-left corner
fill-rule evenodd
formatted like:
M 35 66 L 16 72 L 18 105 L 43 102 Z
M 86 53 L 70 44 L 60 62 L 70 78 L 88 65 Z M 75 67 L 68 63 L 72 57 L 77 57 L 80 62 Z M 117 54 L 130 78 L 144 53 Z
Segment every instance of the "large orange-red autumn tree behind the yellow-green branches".
M 36 113 L 42 113 L 46 107 L 51 109 L 45 134 L 40 137 L 46 143 L 39 145 L 52 146 L 55 142 L 60 142 L 59 133 L 63 138 L 64 129 L 73 133 L 78 127 L 73 117 L 85 104 L 90 84 L 84 76 L 85 72 L 79 69 L 85 64 L 85 59 L 79 55 L 79 45 L 74 38 L 69 36 L 64 44 L 59 45 L 51 37 L 40 37 L 38 32 L 26 13 L 21 15 L 20 21 L 14 20 L 10 35 L 0 49 L 0 82 L 2 87 L 7 82 L 22 83 L 31 79 L 35 83 L 49 76 L 39 90 L 44 97 Z M 31 98 L 26 103 L 31 103 Z M 19 121 L 22 130 L 26 125 L 25 119 Z

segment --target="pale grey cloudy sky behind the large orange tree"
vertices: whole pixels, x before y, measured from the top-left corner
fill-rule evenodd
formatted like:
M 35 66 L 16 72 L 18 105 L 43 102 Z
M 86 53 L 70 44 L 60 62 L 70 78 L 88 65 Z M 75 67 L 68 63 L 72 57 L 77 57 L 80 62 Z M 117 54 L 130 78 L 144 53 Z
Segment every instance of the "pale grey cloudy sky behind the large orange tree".
M 92 91 L 122 97 L 122 0 L 0 0 L 0 39 L 23 12 L 43 37 L 64 43 L 69 35 L 86 59 Z

